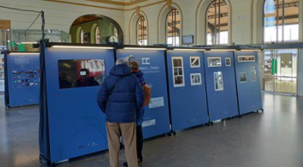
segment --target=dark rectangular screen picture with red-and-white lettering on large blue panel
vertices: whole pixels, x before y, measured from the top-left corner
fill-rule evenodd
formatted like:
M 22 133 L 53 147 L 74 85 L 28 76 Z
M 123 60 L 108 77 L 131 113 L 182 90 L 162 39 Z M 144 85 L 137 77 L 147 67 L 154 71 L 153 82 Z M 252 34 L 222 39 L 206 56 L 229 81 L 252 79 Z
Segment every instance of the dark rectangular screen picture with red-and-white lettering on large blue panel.
M 60 89 L 100 86 L 105 78 L 105 60 L 58 60 Z

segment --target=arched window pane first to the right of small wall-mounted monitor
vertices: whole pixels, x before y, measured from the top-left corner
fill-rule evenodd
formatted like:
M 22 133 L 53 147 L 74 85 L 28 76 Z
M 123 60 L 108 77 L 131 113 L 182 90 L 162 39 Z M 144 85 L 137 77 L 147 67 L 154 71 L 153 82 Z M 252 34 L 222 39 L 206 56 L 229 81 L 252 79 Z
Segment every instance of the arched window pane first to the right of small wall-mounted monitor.
M 224 0 L 211 2 L 206 10 L 207 45 L 228 44 L 228 8 Z

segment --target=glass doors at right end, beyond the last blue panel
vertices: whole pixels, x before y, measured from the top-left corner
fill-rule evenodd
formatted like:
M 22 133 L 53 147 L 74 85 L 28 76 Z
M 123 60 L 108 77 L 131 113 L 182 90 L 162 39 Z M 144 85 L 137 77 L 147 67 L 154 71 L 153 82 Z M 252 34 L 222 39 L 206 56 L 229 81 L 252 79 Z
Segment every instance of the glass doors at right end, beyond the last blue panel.
M 298 49 L 264 51 L 264 90 L 280 94 L 297 94 Z

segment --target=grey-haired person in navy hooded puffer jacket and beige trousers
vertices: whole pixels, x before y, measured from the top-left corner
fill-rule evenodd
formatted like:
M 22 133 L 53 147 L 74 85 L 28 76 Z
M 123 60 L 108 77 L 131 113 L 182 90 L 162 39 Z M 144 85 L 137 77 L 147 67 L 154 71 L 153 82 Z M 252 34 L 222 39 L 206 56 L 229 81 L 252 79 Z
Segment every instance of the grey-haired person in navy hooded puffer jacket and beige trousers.
M 120 136 L 130 167 L 138 167 L 136 151 L 136 118 L 144 102 L 144 92 L 137 77 L 132 75 L 126 59 L 118 59 L 98 92 L 98 105 L 106 115 L 109 161 L 119 166 Z

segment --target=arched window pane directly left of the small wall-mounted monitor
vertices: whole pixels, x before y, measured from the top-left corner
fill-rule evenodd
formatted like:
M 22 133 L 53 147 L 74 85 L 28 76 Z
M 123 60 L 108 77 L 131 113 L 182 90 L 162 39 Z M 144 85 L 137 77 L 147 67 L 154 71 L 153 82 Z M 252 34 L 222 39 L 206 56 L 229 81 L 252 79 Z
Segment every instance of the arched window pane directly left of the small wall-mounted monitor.
M 171 10 L 166 17 L 166 43 L 180 46 L 181 15 L 177 9 Z

